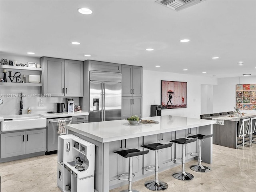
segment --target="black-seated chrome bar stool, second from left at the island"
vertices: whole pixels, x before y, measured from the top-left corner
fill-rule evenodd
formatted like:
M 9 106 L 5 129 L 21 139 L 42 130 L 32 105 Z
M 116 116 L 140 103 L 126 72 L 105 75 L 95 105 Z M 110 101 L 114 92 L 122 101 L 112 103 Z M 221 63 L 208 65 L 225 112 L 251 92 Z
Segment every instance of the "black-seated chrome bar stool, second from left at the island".
M 164 149 L 172 146 L 172 143 L 162 144 L 162 143 L 152 143 L 147 145 L 142 145 L 142 147 L 155 151 L 155 166 L 148 166 L 145 168 L 146 171 L 155 172 L 155 180 L 150 180 L 145 182 L 145 187 L 152 191 L 162 191 L 168 188 L 168 184 L 158 180 L 158 150 Z M 154 170 L 150 169 L 153 168 Z

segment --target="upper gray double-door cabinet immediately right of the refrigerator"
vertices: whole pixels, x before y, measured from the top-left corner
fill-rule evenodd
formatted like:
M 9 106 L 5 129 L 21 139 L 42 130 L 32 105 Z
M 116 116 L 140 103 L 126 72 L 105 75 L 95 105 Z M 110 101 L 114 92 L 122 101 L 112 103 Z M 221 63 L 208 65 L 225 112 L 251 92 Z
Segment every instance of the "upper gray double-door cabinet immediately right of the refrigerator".
M 122 96 L 142 96 L 142 67 L 122 65 Z

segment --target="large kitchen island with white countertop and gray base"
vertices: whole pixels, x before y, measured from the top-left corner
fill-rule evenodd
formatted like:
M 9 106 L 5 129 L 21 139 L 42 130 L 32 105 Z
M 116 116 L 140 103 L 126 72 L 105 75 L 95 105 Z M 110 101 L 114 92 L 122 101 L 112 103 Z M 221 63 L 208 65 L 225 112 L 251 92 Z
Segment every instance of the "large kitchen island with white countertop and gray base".
M 136 124 L 130 125 L 127 120 L 114 120 L 106 122 L 91 122 L 83 124 L 66 125 L 68 134 L 74 134 L 88 142 L 95 144 L 95 190 L 108 192 L 112 188 L 128 184 L 127 181 L 117 179 L 118 175 L 128 172 L 128 161 L 117 154 L 116 150 L 138 148 L 153 142 L 169 142 L 176 138 L 185 138 L 193 134 L 212 134 L 212 124 L 215 121 L 196 118 L 186 118 L 179 116 L 157 116 L 142 118 L 145 120 L 155 120 L 159 124 Z M 189 147 L 188 147 L 189 148 Z M 167 148 L 168 149 L 168 148 Z M 197 145 L 194 144 L 187 151 L 196 152 Z M 173 164 L 174 158 L 181 156 L 181 146 L 174 145 L 169 149 L 169 160 L 165 156 L 165 161 L 160 165 L 160 170 L 166 170 L 180 164 Z M 139 158 L 134 157 L 133 172 L 136 174 L 133 181 L 145 178 L 153 172 L 146 172 L 144 168 L 154 162 L 154 153 L 144 155 Z M 160 157 L 161 158 L 161 157 Z M 186 160 L 192 158 L 187 155 Z M 205 140 L 202 146 L 202 161 L 212 163 L 212 138 Z

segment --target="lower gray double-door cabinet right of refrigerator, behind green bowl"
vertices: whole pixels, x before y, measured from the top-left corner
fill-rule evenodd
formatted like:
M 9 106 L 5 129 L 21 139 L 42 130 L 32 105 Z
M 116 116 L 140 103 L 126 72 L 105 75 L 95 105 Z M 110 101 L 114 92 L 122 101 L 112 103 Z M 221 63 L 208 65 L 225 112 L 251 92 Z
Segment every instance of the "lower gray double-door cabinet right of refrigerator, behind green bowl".
M 122 119 L 132 115 L 142 117 L 142 97 L 122 97 Z

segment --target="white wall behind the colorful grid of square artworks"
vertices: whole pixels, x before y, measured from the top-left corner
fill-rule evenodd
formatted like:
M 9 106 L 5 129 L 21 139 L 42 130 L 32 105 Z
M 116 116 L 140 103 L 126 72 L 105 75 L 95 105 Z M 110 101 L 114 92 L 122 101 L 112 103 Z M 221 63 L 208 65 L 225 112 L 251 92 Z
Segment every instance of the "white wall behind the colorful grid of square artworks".
M 213 86 L 213 113 L 234 110 L 236 84 L 256 84 L 256 76 L 218 78 L 218 84 Z M 242 110 L 242 112 L 256 113 L 252 110 Z

